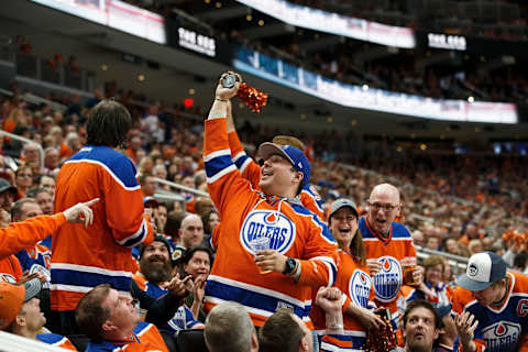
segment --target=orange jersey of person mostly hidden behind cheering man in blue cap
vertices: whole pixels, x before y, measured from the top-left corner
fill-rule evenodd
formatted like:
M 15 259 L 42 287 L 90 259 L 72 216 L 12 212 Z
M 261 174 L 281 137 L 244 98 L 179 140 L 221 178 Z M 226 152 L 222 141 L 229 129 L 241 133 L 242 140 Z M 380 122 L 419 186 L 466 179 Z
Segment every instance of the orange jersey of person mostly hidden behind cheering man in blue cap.
M 242 177 L 249 179 L 251 182 L 251 186 L 254 189 L 258 189 L 258 183 L 261 180 L 261 166 L 258 166 L 251 157 L 245 154 L 244 147 L 242 146 L 242 143 L 240 142 L 237 132 L 230 132 L 228 134 L 228 139 L 234 165 L 237 165 L 237 167 L 239 168 Z M 319 219 L 324 219 L 321 208 L 323 201 L 314 185 L 307 184 L 300 191 L 299 197 L 302 206 L 317 215 Z

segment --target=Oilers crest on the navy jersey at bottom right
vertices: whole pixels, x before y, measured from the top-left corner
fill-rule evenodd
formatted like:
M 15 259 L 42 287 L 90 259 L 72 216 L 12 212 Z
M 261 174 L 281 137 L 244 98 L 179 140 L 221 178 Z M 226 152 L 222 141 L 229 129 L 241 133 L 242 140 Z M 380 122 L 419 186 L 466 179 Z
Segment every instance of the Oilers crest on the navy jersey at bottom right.
M 509 321 L 498 321 L 482 330 L 486 341 L 486 352 L 513 352 L 517 351 L 520 337 L 520 324 Z

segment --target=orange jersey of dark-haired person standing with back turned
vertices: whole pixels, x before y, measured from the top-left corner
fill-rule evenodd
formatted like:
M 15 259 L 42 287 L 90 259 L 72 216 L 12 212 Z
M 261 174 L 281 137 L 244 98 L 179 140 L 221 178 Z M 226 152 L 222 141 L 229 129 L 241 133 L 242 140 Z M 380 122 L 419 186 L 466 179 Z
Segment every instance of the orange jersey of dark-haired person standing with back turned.
M 99 284 L 129 292 L 138 268 L 131 248 L 150 243 L 153 232 L 144 217 L 135 166 L 107 146 L 85 146 L 61 168 L 55 211 L 100 198 L 91 207 L 94 223 L 65 224 L 53 237 L 51 302 L 73 310 Z

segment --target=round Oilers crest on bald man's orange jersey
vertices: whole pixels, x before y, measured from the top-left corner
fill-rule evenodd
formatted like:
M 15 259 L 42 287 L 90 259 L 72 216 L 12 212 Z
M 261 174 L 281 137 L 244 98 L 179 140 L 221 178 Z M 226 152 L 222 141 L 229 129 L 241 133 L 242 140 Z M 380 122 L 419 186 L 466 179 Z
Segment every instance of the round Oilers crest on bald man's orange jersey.
M 381 256 L 377 262 L 382 270 L 374 276 L 374 293 L 381 301 L 392 301 L 399 293 L 403 283 L 402 266 L 394 256 Z

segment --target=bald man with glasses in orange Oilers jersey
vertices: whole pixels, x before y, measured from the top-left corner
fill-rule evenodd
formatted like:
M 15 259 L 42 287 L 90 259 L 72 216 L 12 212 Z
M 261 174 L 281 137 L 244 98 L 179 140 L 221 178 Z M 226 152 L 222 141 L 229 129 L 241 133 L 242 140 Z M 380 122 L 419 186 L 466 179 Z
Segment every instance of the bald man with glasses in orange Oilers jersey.
M 366 263 L 374 282 L 375 301 L 391 310 L 396 327 L 396 300 L 404 283 L 404 266 L 416 265 L 416 249 L 409 230 L 394 220 L 402 211 L 399 191 L 389 184 L 374 187 L 369 211 L 360 219 L 360 231 L 366 251 Z M 419 284 L 422 271 L 416 267 L 414 282 Z

